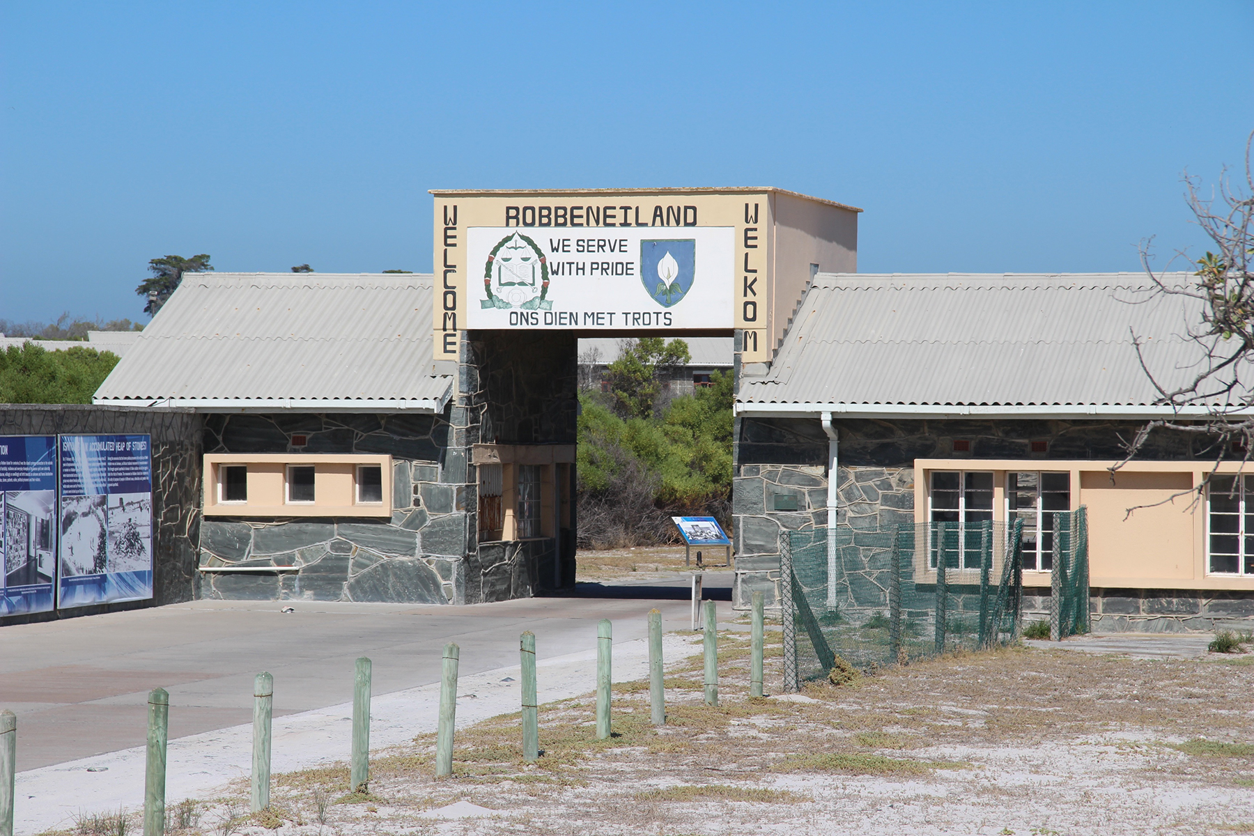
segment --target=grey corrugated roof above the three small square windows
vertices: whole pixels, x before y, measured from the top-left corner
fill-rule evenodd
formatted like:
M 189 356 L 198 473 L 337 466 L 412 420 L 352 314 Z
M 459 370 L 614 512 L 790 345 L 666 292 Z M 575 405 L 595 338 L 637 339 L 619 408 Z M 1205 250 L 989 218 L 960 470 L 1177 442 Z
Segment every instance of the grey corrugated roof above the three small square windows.
M 431 277 L 187 273 L 95 392 L 117 400 L 436 401 Z

